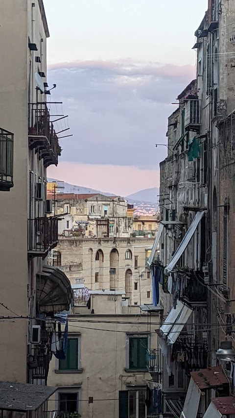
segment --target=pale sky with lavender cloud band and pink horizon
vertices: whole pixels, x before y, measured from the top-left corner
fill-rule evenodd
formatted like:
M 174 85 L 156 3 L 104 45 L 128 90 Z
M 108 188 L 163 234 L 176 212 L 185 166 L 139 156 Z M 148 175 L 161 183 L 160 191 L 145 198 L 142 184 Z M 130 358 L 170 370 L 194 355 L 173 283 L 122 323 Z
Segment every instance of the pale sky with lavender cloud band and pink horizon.
M 167 118 L 195 76 L 208 0 L 44 0 L 50 101 L 63 148 L 48 177 L 127 196 L 159 186 Z M 51 118 L 51 119 L 56 119 Z

